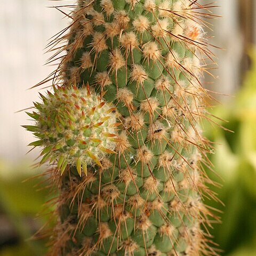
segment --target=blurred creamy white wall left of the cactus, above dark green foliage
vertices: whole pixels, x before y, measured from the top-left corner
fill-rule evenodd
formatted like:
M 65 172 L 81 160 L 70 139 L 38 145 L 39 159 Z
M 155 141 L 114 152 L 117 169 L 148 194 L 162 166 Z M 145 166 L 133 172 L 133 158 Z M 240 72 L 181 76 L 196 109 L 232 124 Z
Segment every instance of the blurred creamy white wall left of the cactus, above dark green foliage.
M 25 156 L 26 145 L 33 140 L 20 127 L 28 124 L 27 115 L 14 113 L 37 100 L 37 90 L 27 89 L 53 70 L 43 66 L 49 58 L 43 54 L 44 47 L 47 39 L 67 25 L 59 11 L 46 8 L 53 4 L 57 2 L 8 0 L 0 4 L 0 158 L 13 162 Z

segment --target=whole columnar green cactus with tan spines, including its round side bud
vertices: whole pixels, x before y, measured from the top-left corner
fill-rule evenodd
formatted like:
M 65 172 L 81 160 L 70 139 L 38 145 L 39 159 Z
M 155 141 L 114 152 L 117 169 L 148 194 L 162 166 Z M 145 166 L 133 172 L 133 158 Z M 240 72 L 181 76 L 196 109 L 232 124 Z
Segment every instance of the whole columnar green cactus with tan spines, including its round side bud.
M 67 35 L 50 44 L 66 52 L 54 92 L 25 126 L 39 138 L 31 146 L 43 147 L 41 163 L 57 166 L 47 172 L 60 191 L 49 255 L 217 255 L 206 228 L 217 217 L 203 204 L 215 199 L 200 128 L 206 7 L 79 0 L 67 14 Z

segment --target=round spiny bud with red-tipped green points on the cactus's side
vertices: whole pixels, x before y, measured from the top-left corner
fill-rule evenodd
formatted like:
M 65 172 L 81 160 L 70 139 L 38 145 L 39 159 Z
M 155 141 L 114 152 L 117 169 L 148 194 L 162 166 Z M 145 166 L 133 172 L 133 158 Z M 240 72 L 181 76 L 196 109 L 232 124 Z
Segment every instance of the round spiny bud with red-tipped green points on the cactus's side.
M 35 119 L 35 126 L 25 126 L 34 132 L 38 141 L 30 146 L 42 146 L 42 161 L 58 161 L 63 173 L 67 165 L 76 165 L 81 175 L 83 166 L 101 166 L 106 154 L 113 154 L 116 147 L 116 114 L 113 106 L 87 89 L 75 86 L 58 87 L 35 106 L 36 112 L 28 113 Z

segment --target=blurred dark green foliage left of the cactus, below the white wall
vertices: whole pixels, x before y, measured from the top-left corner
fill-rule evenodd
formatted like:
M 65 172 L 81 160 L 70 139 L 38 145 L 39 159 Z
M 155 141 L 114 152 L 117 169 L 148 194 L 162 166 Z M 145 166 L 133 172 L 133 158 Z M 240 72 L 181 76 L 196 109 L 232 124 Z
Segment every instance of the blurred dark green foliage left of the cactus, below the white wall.
M 7 244 L 0 246 L 0 256 L 45 255 L 44 241 L 30 239 L 46 221 L 46 217 L 36 218 L 36 215 L 43 210 L 48 197 L 45 189 L 37 191 L 44 178 L 32 179 L 34 176 L 35 170 L 32 173 L 27 164 L 10 166 L 0 161 L 0 213 L 15 231 L 13 238 L 10 237 L 14 245 L 6 237 Z

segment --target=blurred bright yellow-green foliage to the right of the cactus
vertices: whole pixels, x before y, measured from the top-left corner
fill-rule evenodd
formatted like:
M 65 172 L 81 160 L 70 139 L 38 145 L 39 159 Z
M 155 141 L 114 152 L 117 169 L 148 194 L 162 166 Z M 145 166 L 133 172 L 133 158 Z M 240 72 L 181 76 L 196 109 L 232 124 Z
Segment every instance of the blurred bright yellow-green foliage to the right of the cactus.
M 214 240 L 224 251 L 222 255 L 256 255 L 256 50 L 251 54 L 252 69 L 248 71 L 241 90 L 225 105 L 212 111 L 228 121 L 218 121 L 226 131 L 205 125 L 206 136 L 214 142 L 215 154 L 210 156 L 217 175 L 210 177 L 222 188 L 212 188 L 225 204 L 207 202 L 220 214 L 221 225 L 214 225 Z M 210 172 L 210 171 L 209 171 Z

